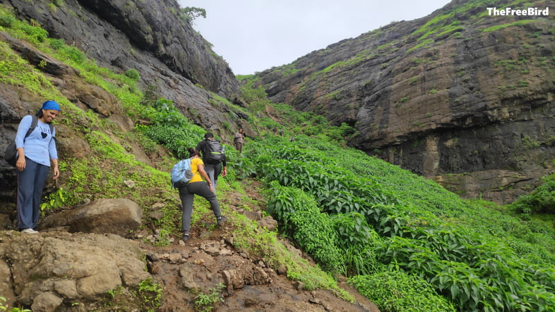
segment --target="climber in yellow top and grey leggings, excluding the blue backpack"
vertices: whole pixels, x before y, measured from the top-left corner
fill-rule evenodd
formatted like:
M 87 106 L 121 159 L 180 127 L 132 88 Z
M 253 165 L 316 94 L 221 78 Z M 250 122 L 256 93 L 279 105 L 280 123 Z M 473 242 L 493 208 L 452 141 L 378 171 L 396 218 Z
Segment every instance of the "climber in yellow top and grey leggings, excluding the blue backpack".
M 214 190 L 214 185 L 212 180 L 208 177 L 205 166 L 200 159 L 200 153 L 198 150 L 189 148 L 189 157 L 191 157 L 191 172 L 193 172 L 193 177 L 189 180 L 189 183 L 179 189 L 179 198 L 181 199 L 181 207 L 183 209 L 183 214 L 181 217 L 181 227 L 183 230 L 182 241 L 189 241 L 189 230 L 191 229 L 191 214 L 193 213 L 193 201 L 195 195 L 203 196 L 208 202 L 210 202 L 210 209 L 214 212 L 218 225 L 221 226 L 228 220 L 227 217 L 221 215 L 220 205 L 218 199 L 216 198 L 216 193 Z M 203 181 L 203 177 L 205 181 Z

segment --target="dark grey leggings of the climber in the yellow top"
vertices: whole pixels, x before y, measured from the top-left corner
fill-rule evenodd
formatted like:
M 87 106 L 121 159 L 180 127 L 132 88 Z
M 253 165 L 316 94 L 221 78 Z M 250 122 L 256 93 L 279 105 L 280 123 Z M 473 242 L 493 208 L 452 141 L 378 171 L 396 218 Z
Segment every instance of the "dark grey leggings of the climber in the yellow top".
M 206 200 L 210 202 L 210 209 L 214 211 L 216 220 L 221 217 L 218 199 L 216 198 L 216 194 L 210 191 L 208 183 L 204 181 L 189 183 L 185 187 L 179 189 L 179 197 L 181 198 L 181 207 L 183 209 L 181 217 L 183 234 L 189 234 L 189 230 L 191 229 L 191 215 L 193 214 L 193 200 L 195 195 L 203 196 L 203 198 L 206 198 Z

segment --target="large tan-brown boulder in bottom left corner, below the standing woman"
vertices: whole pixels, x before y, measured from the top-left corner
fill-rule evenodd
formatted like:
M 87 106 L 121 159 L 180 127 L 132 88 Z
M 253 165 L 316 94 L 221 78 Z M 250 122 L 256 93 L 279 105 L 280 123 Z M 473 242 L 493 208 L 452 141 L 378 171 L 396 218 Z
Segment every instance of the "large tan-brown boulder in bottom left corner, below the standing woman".
M 117 235 L 0 232 L 0 294 L 33 311 L 75 304 L 91 311 L 108 291 L 151 277 L 141 259 L 142 251 Z

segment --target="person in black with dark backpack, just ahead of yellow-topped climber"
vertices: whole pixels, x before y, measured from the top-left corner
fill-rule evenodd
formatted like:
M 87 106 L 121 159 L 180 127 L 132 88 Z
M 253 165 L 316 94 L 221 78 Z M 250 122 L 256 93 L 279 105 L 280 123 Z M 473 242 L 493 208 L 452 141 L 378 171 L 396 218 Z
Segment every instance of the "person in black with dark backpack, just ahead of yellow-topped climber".
M 222 177 L 228 175 L 228 162 L 225 159 L 223 148 L 220 142 L 214 139 L 214 135 L 207 132 L 204 135 L 204 140 L 198 142 L 196 150 L 203 153 L 203 162 L 205 164 L 205 171 L 210 177 L 210 181 L 214 184 L 214 193 L 218 185 L 218 176 Z

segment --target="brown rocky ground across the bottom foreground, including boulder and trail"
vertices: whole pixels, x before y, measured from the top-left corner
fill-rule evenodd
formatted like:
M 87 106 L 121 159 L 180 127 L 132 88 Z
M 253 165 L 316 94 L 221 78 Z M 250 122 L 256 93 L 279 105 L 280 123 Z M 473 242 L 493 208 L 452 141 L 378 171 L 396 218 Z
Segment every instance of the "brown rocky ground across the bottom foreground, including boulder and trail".
M 242 188 L 219 195 L 226 211 L 275 229 L 275 220 L 262 217 L 259 182 L 248 180 Z M 287 278 L 286 268 L 271 268 L 263 259 L 236 250 L 233 232 L 237 223 L 232 217 L 221 227 L 215 220 L 203 221 L 193 225 L 187 243 L 171 237 L 171 244 L 164 246 L 148 243 L 153 236 L 148 228 L 153 225 L 146 225 L 133 238 L 123 238 L 108 232 L 71 231 L 71 226 L 42 227 L 38 234 L 23 234 L 3 222 L 0 297 L 7 298 L 8 306 L 34 312 L 379 311 L 345 278 L 339 286 L 355 298 L 354 303 L 332 291 L 307 291 L 301 282 Z M 282 243 L 314 265 L 289 241 Z M 141 282 L 148 277 L 162 288 L 160 307 L 148 305 L 154 302 L 154 292 L 147 300 L 137 301 L 144 296 Z

